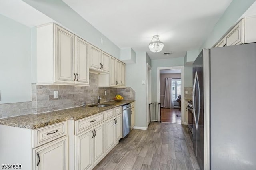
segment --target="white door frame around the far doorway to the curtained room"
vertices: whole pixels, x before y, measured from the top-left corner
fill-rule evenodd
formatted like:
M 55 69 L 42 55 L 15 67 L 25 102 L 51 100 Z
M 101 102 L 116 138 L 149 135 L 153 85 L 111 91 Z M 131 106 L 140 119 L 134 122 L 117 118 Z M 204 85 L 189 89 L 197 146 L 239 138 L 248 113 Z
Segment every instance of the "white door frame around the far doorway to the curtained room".
M 156 96 L 157 102 L 160 103 L 160 70 L 181 69 L 181 124 L 187 125 L 184 115 L 184 66 L 157 67 L 156 68 Z

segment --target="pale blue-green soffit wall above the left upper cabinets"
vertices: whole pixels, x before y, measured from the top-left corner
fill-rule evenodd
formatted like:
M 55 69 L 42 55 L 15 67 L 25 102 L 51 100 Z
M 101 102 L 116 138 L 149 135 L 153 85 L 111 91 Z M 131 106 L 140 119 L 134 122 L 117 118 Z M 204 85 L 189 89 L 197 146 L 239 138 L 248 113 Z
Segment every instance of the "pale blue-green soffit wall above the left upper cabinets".
M 120 48 L 111 42 L 106 36 L 94 28 L 89 22 L 84 20 L 72 8 L 62 0 L 23 0 L 30 6 L 52 18 L 65 28 L 71 30 L 84 40 L 92 43 L 96 47 L 120 59 Z M 104 39 L 104 45 L 101 44 Z

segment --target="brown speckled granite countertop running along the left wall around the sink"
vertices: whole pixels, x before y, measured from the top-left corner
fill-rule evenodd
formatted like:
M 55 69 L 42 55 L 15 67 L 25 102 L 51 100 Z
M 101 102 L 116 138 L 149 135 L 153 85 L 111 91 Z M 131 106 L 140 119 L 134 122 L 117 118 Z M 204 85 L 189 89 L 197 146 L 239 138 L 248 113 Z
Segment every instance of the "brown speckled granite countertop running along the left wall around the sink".
M 74 107 L 70 109 L 47 112 L 47 113 L 8 117 L 8 118 L 0 119 L 0 125 L 36 129 L 36 128 L 44 127 L 47 125 L 52 125 L 54 123 L 66 121 L 68 119 L 71 119 L 71 120 L 82 119 L 84 117 L 88 117 L 88 116 L 112 109 L 114 107 L 122 106 L 124 104 L 131 103 L 133 101 L 134 100 L 108 101 L 108 102 L 101 103 L 101 104 L 112 104 L 111 106 L 108 106 L 108 107 L 98 108 L 98 107 L 89 107 L 88 105 L 86 105 L 85 107 L 80 106 L 80 107 Z

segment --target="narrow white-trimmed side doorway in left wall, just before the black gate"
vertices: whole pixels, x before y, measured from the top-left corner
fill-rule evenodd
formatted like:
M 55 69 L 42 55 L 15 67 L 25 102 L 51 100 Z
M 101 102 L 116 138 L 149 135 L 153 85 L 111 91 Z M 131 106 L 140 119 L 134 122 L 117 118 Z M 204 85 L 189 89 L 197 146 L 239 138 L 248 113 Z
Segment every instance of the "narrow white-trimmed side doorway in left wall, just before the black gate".
M 146 70 L 146 99 L 147 99 L 147 127 L 150 123 L 150 117 L 149 117 L 149 104 L 152 102 L 152 67 L 147 63 L 147 70 Z

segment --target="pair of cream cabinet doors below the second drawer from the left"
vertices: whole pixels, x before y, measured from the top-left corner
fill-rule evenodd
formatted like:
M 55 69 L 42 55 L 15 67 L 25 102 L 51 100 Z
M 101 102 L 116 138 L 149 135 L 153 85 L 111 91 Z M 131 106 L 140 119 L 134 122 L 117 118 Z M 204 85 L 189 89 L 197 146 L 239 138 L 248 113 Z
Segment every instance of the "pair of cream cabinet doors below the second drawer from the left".
M 76 170 L 90 169 L 104 156 L 104 127 L 103 122 L 76 135 Z

